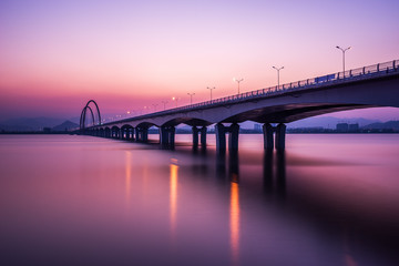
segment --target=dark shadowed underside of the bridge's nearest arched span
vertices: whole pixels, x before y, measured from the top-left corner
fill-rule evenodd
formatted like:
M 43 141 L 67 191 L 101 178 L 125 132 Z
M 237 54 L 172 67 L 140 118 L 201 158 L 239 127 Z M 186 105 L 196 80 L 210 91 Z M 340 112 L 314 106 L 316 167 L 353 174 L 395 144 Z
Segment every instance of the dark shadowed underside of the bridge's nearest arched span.
M 223 123 L 241 123 L 254 121 L 258 123 L 289 123 L 320 114 L 348 111 L 355 109 L 376 108 L 375 105 L 365 104 L 288 104 L 278 106 L 268 106 L 244 112 L 231 116 Z

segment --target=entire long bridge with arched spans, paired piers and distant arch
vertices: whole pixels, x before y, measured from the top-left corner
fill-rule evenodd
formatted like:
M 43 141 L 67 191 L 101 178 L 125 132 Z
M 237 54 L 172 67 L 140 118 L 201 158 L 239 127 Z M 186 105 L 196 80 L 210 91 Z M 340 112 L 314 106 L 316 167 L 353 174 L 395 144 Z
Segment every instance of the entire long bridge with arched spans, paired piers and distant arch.
M 155 125 L 160 129 L 160 143 L 174 147 L 175 126 L 184 123 L 192 126 L 196 147 L 198 142 L 206 145 L 206 126 L 215 124 L 216 146 L 224 151 L 226 133 L 228 147 L 237 150 L 238 123 L 254 121 L 264 124 L 265 149 L 284 149 L 284 123 L 344 110 L 399 108 L 399 60 L 104 124 L 100 119 L 95 125 L 85 126 L 86 110 L 92 113 L 89 103 L 81 115 L 83 134 L 146 142 L 149 129 Z

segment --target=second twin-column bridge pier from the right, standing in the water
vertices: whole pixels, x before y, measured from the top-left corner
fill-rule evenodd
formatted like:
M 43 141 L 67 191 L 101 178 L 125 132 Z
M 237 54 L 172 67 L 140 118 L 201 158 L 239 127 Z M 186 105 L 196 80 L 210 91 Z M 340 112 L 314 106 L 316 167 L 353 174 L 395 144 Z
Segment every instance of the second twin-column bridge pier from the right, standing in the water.
M 215 125 L 216 133 L 216 151 L 225 152 L 226 151 L 226 133 L 228 133 L 228 150 L 237 151 L 238 150 L 238 134 L 239 125 L 233 123 L 231 126 L 226 127 L 221 123 Z

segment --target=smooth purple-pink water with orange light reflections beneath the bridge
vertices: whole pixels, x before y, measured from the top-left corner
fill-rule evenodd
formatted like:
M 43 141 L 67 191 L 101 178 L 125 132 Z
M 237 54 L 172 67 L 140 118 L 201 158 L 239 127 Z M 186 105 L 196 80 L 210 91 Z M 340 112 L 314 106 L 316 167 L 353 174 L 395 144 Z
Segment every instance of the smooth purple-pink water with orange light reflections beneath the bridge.
M 399 265 L 399 135 L 239 137 L 0 135 L 0 265 Z

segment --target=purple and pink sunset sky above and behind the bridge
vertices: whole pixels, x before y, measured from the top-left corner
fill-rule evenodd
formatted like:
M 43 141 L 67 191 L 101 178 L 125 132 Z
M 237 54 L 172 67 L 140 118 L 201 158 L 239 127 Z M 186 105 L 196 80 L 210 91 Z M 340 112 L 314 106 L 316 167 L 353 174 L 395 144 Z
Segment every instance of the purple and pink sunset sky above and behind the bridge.
M 1 0 L 0 120 L 139 114 L 399 60 L 399 1 Z M 399 120 L 398 109 L 336 113 Z

